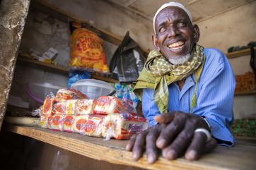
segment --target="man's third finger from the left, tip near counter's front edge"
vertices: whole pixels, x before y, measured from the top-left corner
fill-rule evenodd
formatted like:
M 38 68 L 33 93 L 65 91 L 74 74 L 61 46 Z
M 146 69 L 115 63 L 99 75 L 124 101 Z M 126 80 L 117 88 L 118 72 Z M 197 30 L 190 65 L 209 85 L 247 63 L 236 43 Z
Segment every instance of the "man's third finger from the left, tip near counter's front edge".
M 156 139 L 158 138 L 158 131 L 151 130 L 148 135 L 146 135 L 146 156 L 147 162 L 153 164 L 156 162 L 158 157 L 158 149 L 156 148 Z

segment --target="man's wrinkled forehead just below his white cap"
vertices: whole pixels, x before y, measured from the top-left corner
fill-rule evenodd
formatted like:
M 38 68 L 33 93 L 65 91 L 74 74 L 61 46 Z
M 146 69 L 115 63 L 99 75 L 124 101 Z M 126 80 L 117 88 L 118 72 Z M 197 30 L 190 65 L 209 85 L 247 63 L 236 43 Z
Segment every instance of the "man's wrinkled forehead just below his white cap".
M 169 6 L 163 8 L 162 11 L 158 13 L 155 20 L 155 26 L 157 27 L 162 22 L 167 20 L 174 21 L 174 20 L 183 20 L 183 22 L 190 23 L 190 18 L 187 16 L 187 13 L 182 10 L 182 8 L 176 6 Z

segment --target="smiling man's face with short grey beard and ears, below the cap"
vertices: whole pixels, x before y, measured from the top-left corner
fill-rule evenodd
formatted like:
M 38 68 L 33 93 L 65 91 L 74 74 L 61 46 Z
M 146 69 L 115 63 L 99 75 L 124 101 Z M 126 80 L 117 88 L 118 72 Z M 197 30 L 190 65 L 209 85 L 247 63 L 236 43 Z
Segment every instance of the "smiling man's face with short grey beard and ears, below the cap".
M 156 16 L 155 26 L 153 43 L 168 60 L 190 54 L 199 40 L 199 28 L 193 27 L 187 13 L 178 7 L 164 8 Z

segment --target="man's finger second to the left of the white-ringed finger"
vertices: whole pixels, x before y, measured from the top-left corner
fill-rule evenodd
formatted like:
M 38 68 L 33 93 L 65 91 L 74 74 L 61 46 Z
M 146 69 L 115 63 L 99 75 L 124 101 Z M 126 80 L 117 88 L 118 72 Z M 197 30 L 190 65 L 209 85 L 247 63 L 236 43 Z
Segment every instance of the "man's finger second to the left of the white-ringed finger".
M 159 135 L 158 139 L 156 140 L 156 146 L 160 149 L 170 145 L 170 142 L 175 138 L 175 135 L 180 133 L 182 128 L 184 127 L 186 120 L 184 114 L 179 114 L 175 116 L 173 121 L 168 124 Z

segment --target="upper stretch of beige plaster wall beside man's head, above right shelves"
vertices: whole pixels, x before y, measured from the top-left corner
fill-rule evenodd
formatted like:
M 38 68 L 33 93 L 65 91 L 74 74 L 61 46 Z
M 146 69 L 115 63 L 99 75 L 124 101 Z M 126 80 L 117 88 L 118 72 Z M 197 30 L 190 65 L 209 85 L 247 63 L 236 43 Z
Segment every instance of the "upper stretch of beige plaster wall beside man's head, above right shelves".
M 256 41 L 256 1 L 234 8 L 214 18 L 197 23 L 204 47 L 216 47 L 227 52 L 228 47 Z

